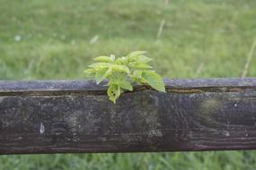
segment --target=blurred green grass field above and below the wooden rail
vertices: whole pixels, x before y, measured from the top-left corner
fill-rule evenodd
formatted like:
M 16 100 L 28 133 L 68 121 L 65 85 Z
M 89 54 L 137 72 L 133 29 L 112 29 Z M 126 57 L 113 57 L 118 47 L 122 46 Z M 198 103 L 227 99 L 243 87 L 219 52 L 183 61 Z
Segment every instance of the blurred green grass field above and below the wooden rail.
M 84 79 L 94 56 L 134 50 L 166 78 L 240 77 L 255 9 L 255 0 L 0 0 L 0 79 Z M 255 68 L 253 56 L 247 76 Z M 255 167 L 255 151 L 0 157 L 4 170 Z

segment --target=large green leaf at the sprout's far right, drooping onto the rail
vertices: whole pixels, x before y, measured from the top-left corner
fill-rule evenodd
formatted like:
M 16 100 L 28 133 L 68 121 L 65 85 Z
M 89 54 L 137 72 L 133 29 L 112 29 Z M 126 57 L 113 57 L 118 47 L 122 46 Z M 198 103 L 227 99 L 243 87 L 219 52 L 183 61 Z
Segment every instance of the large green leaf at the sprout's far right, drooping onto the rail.
M 143 71 L 142 78 L 149 84 L 153 89 L 165 92 L 163 79 L 159 74 L 154 71 Z

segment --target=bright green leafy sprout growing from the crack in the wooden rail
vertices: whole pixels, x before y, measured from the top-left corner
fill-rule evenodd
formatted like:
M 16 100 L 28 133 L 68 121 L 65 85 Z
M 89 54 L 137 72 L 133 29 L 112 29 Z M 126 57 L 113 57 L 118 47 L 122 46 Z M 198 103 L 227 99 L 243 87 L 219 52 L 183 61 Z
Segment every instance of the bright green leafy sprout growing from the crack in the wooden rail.
M 165 92 L 163 79 L 148 64 L 152 58 L 146 56 L 146 51 L 135 51 L 119 58 L 115 55 L 98 56 L 94 61 L 96 63 L 89 65 L 84 72 L 89 77 L 93 76 L 97 84 L 108 80 L 108 96 L 114 103 L 124 90 L 133 90 L 133 82 L 148 84 L 153 89 Z

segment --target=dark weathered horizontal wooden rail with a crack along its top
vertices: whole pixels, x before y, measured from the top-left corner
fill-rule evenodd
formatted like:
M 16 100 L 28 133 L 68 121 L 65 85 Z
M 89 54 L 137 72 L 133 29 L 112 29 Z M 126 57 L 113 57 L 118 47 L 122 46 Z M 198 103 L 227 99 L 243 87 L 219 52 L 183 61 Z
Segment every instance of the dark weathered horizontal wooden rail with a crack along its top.
M 0 81 L 0 154 L 256 149 L 256 79 Z

